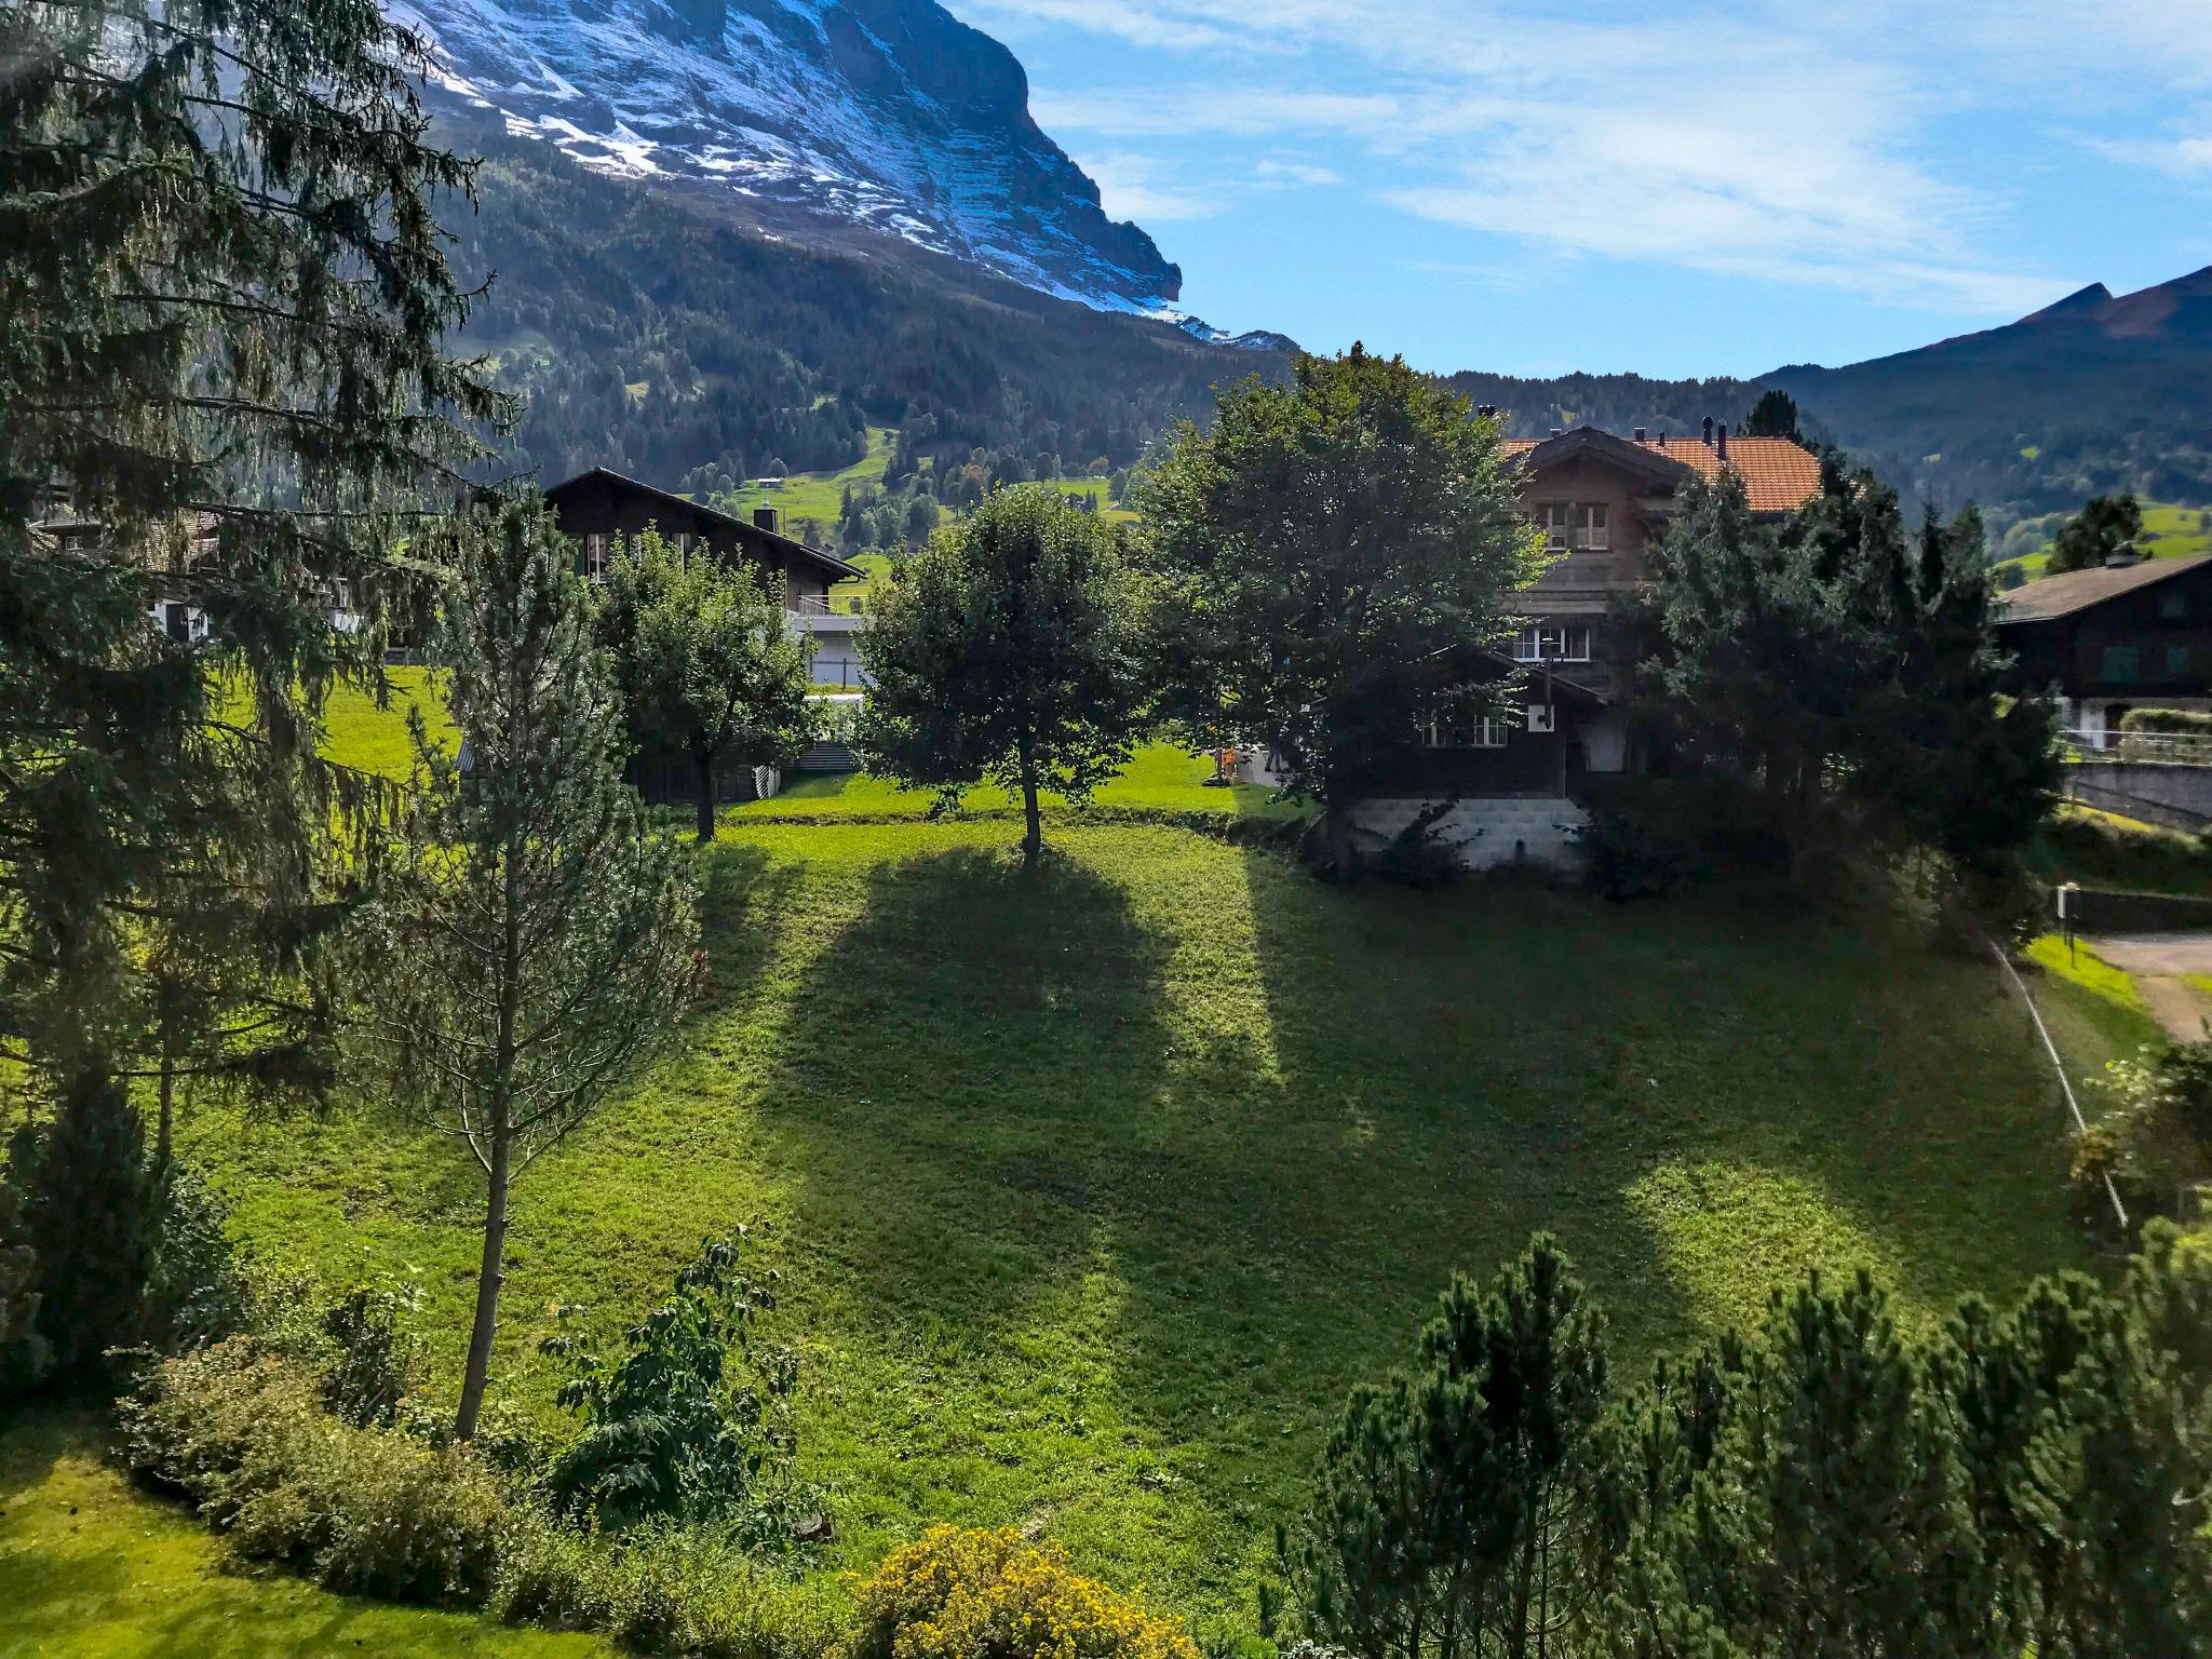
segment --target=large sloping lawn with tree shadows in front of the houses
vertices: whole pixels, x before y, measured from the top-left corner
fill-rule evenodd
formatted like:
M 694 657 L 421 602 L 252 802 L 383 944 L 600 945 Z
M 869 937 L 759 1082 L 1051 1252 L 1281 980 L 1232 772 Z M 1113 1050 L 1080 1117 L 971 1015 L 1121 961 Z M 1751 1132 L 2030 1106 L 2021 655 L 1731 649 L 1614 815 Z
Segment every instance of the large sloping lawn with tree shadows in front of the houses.
M 765 1223 L 825 1586 L 931 1522 L 1033 1524 L 1248 1626 L 1343 1391 L 1537 1228 L 1626 1374 L 1807 1265 L 1931 1321 L 2081 1261 L 2057 1091 L 1984 962 L 1772 905 L 1340 891 L 1159 825 L 1057 825 L 1029 880 L 1011 841 L 737 818 L 717 1002 L 515 1194 L 498 1389 L 549 1422 L 557 1305 L 613 1327 Z M 217 1106 L 186 1141 L 254 1245 L 418 1279 L 451 1385 L 451 1146 Z

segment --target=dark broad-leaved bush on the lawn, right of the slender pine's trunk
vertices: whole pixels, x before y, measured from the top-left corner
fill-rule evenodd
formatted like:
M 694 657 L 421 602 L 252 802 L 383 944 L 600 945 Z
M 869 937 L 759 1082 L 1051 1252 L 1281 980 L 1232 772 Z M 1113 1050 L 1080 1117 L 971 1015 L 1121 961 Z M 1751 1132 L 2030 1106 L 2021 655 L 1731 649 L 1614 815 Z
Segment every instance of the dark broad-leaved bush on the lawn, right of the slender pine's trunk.
M 560 1402 L 584 1420 L 546 1475 L 553 1502 L 606 1531 L 650 1520 L 719 1522 L 774 1535 L 763 1473 L 792 1453 L 796 1360 L 754 1352 L 770 1281 L 739 1267 L 743 1230 L 708 1239 L 675 1294 L 624 1332 L 619 1358 L 582 1338 L 546 1343 L 568 1369 Z

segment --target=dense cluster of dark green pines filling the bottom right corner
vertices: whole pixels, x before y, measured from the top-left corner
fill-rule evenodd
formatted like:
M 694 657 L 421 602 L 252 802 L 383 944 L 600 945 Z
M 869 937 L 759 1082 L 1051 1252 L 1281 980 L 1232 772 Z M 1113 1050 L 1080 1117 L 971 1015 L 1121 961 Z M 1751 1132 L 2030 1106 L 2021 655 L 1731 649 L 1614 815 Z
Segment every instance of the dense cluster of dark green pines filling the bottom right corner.
M 2212 1652 L 2212 1250 L 1909 1329 L 1812 1276 L 1608 1396 L 1548 1241 L 1358 1389 L 1281 1537 L 1290 1624 L 1374 1659 Z

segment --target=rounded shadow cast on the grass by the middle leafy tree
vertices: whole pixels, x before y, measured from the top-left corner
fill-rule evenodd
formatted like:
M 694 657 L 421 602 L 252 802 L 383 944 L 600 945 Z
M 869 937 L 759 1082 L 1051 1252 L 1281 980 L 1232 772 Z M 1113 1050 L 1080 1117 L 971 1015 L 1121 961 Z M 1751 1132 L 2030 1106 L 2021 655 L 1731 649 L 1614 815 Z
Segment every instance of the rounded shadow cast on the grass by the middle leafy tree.
M 1079 1274 L 1159 1084 L 1159 940 L 1115 885 L 958 849 L 874 869 L 759 1091 L 821 1294 L 971 1345 Z

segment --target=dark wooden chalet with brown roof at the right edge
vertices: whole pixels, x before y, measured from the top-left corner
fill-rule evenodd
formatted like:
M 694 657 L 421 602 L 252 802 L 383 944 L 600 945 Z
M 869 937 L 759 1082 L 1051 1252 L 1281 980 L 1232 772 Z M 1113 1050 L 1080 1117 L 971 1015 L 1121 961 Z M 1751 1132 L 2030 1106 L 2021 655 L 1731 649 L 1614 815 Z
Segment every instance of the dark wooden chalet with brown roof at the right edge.
M 2011 688 L 2055 692 L 2062 723 L 2117 732 L 2130 708 L 2212 699 L 2212 557 L 2070 571 L 2006 593 Z

